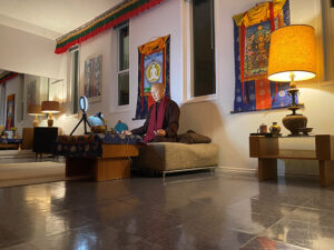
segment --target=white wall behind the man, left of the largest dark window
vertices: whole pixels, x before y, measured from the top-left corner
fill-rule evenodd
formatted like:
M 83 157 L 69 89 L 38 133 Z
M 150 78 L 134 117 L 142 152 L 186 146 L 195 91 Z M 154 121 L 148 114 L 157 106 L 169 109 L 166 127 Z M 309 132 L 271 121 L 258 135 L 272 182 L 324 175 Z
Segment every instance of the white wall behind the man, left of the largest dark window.
M 171 18 L 173 13 L 173 18 Z M 88 114 L 102 111 L 107 119 L 108 128 L 115 127 L 121 119 L 130 129 L 141 126 L 144 120 L 132 121 L 136 112 L 138 88 L 138 46 L 157 37 L 170 34 L 170 93 L 178 103 L 181 102 L 181 37 L 180 37 L 180 2 L 168 0 L 161 4 L 135 17 L 129 24 L 129 71 L 130 71 L 130 104 L 125 111 L 115 112 L 117 98 L 117 32 L 111 29 L 84 42 L 80 46 L 80 84 L 84 84 L 85 60 L 91 56 L 102 54 L 102 99 L 100 102 L 89 103 Z M 158 21 L 157 21 L 158 20 Z M 82 89 L 82 88 L 81 88 Z M 82 93 L 82 92 L 81 92 Z M 65 118 L 63 118 L 65 119 Z M 66 131 L 72 124 L 62 126 Z M 81 126 L 76 133 L 82 132 Z

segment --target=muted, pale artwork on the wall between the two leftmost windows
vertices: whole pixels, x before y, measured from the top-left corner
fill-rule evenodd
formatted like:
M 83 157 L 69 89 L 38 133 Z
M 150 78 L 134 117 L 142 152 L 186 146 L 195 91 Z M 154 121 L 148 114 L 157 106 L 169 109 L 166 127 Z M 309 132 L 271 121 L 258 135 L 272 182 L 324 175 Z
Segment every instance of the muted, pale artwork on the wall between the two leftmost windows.
M 85 61 L 84 96 L 89 101 L 99 101 L 102 92 L 102 54 Z

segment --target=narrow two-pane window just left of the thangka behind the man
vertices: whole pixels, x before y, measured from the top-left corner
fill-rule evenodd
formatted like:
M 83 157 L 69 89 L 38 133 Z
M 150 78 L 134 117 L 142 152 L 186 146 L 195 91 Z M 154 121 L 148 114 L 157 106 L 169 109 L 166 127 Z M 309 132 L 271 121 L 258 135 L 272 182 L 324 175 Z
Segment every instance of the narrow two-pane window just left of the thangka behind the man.
M 129 26 L 118 28 L 118 106 L 129 104 Z

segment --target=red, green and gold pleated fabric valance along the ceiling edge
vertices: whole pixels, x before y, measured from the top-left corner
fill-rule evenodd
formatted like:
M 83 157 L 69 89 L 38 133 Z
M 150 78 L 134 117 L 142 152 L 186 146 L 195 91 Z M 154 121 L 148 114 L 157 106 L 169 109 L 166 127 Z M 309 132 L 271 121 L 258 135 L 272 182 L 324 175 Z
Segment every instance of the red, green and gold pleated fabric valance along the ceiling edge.
M 80 44 L 166 0 L 125 0 L 118 6 L 98 16 L 88 23 L 57 39 L 55 53 L 63 53 L 69 48 Z

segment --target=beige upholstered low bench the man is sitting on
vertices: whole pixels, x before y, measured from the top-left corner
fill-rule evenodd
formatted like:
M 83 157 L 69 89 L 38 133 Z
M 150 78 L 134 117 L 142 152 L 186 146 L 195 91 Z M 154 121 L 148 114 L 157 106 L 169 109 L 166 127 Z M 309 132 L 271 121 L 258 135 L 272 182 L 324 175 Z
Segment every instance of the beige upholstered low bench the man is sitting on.
M 139 147 L 139 156 L 132 158 L 134 168 L 150 169 L 163 173 L 215 169 L 218 166 L 218 146 L 215 143 L 186 144 L 153 142 Z

